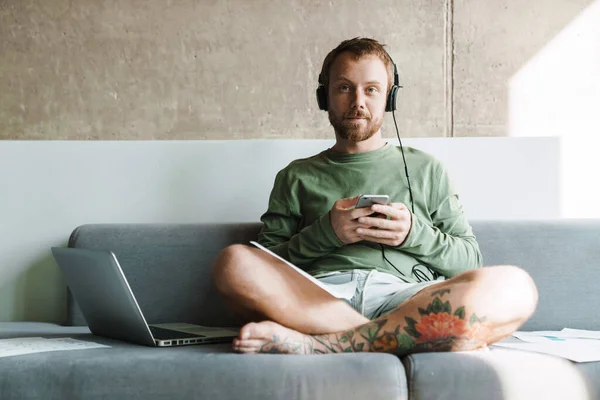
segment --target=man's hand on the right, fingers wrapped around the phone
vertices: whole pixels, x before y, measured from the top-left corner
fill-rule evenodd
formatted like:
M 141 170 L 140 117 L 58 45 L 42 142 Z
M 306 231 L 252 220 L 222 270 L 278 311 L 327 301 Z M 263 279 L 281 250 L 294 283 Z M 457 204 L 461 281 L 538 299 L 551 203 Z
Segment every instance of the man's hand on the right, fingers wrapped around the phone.
M 412 226 L 412 214 L 402 203 L 390 205 L 374 204 L 371 213 L 384 214 L 389 219 L 361 216 L 358 218 L 357 234 L 361 240 L 386 244 L 391 247 L 400 246 L 406 240 Z

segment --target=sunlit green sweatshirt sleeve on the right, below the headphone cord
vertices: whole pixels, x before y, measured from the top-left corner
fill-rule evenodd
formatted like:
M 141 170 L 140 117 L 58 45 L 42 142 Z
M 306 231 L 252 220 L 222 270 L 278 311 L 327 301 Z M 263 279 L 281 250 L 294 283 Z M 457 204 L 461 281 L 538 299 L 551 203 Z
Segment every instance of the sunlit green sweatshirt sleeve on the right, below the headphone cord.
M 445 168 L 437 163 L 430 182 L 431 222 L 412 214 L 412 227 L 398 249 L 452 277 L 482 265 L 479 244 Z

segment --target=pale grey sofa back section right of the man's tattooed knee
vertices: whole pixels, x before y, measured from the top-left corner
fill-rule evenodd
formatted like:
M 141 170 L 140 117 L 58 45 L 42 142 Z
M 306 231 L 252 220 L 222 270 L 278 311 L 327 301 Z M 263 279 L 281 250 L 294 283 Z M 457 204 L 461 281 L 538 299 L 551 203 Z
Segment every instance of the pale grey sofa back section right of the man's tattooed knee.
M 539 292 L 522 330 L 600 330 L 600 220 L 472 221 L 485 265 L 528 271 Z

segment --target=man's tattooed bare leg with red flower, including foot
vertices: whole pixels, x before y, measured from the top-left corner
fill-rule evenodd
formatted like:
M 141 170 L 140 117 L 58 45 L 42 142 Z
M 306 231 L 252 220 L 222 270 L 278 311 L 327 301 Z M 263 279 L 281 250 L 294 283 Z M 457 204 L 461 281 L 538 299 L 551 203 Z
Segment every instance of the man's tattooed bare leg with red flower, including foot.
M 493 280 L 502 268 L 513 269 L 508 272 L 517 277 L 526 276 L 517 279 L 509 291 L 502 285 L 474 284 L 466 276 L 458 277 L 420 291 L 387 315 L 337 333 L 307 335 L 272 321 L 249 323 L 234 340 L 233 349 L 240 353 L 369 351 L 401 356 L 484 348 L 514 332 L 533 314 L 537 303 L 535 285 L 524 271 L 495 268 L 486 271 L 492 272 L 487 279 Z

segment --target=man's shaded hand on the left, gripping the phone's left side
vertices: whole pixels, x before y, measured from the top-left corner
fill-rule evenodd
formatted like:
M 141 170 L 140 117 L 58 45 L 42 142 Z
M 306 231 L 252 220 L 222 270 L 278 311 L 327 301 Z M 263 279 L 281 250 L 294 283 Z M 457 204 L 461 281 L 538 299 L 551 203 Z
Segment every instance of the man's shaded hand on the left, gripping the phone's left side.
M 329 213 L 331 227 L 338 239 L 344 244 L 351 244 L 364 240 L 364 238 L 356 232 L 356 230 L 362 226 L 357 218 L 373 214 L 371 208 L 368 207 L 353 208 L 359 197 L 360 195 L 336 201 L 333 203 L 333 207 Z

